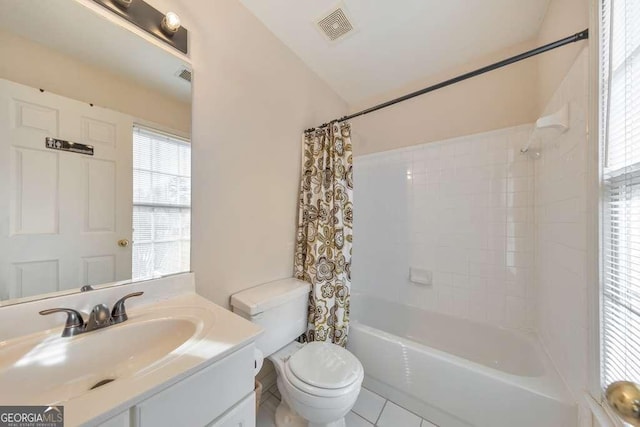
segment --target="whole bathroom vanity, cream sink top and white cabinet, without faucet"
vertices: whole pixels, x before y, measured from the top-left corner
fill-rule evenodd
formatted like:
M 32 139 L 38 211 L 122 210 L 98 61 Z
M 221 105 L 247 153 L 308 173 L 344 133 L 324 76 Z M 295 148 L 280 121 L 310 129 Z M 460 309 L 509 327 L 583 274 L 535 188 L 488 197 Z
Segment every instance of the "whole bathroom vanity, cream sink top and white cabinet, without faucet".
M 70 307 L 124 294 L 128 320 L 62 337 Z M 193 274 L 0 310 L 0 402 L 62 405 L 65 426 L 253 426 L 259 326 L 195 294 Z

